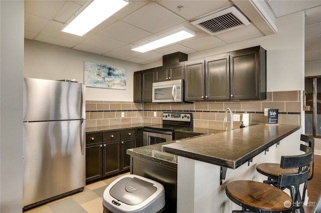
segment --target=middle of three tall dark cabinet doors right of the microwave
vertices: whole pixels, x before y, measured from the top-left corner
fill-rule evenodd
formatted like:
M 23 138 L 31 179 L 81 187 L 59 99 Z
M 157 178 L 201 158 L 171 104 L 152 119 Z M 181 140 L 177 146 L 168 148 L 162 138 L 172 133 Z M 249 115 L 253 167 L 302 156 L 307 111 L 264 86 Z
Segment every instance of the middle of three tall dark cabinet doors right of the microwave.
M 229 55 L 205 61 L 206 99 L 230 99 L 230 60 Z

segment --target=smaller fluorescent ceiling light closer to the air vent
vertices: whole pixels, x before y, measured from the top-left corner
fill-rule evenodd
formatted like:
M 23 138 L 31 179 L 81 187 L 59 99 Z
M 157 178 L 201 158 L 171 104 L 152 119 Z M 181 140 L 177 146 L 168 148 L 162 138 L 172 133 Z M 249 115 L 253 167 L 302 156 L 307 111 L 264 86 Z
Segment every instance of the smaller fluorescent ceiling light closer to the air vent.
M 184 40 L 189 37 L 195 36 L 195 32 L 185 26 L 179 27 L 173 31 L 167 32 L 162 35 L 158 35 L 147 41 L 135 44 L 131 47 L 131 50 L 138 52 L 146 52 L 151 49 L 156 49 L 161 46 L 166 46 L 171 43 L 175 43 L 180 40 Z

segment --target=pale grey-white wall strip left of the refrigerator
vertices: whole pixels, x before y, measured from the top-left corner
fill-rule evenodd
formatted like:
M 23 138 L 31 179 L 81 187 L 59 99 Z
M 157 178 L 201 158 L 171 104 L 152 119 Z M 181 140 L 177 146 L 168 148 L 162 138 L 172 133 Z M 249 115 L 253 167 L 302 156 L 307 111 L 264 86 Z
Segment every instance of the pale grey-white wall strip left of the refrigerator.
M 21 212 L 24 1 L 0 0 L 0 9 L 0 212 Z

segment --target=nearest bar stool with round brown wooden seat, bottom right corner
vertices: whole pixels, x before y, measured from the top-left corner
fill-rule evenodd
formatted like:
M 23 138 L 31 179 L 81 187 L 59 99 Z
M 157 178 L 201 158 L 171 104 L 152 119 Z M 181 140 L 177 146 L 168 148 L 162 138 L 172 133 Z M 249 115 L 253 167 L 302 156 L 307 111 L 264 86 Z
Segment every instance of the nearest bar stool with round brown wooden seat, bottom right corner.
M 297 172 L 279 174 L 277 179 L 278 187 L 252 180 L 236 180 L 228 183 L 225 188 L 227 196 L 233 202 L 242 206 L 242 210 L 233 210 L 232 212 L 283 213 L 295 212 L 297 208 L 301 207 L 300 205 L 297 206 L 301 204 L 297 203 L 298 187 L 308 178 L 313 151 L 311 147 L 303 144 L 301 144 L 300 149 L 304 151 L 304 154 L 281 157 L 281 166 L 283 168 L 297 167 Z M 294 186 L 294 199 L 280 189 L 288 186 Z M 300 212 L 302 212 L 301 209 Z

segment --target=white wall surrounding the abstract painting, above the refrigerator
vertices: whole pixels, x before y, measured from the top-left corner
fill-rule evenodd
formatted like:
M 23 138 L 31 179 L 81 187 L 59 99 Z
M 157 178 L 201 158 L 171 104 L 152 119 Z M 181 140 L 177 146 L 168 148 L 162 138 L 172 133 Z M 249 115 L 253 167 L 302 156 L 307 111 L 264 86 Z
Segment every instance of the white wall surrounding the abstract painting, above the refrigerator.
M 143 65 L 25 39 L 25 77 L 84 82 L 84 61 L 126 69 L 126 89 L 86 87 L 87 100 L 133 101 L 133 72 Z

